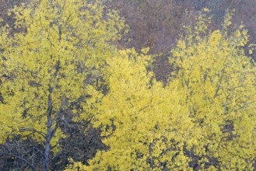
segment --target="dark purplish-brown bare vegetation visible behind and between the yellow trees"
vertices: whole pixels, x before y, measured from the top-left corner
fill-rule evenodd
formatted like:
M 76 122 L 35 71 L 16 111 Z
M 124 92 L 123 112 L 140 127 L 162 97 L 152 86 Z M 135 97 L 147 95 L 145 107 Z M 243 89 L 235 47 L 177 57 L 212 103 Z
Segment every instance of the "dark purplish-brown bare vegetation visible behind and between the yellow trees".
M 8 10 L 26 0 L 0 0 L 0 16 L 3 22 L 14 28 L 12 16 Z M 175 46 L 177 39 L 184 33 L 184 26 L 192 26 L 200 11 L 210 10 L 212 30 L 222 30 L 226 12 L 235 9 L 233 26 L 244 24 L 250 35 L 250 43 L 256 43 L 256 1 L 255 0 L 112 0 L 105 1 L 107 8 L 117 9 L 129 26 L 129 32 L 117 42 L 117 47 L 134 47 L 140 51 L 142 47 L 150 47 L 150 54 L 156 54 L 153 71 L 156 79 L 166 83 L 171 67 L 167 56 Z M 255 59 L 254 54 L 252 54 Z M 70 114 L 69 114 L 70 115 Z M 86 163 L 93 158 L 97 149 L 106 149 L 101 142 L 100 130 L 93 128 L 89 122 L 74 123 L 71 117 L 68 123 L 63 123 L 61 129 L 66 138 L 60 141 L 61 151 L 50 157 L 49 169 L 62 170 L 68 164 L 68 158 Z M 86 133 L 86 134 L 85 134 Z M 24 170 L 40 167 L 44 148 L 37 142 L 27 139 L 20 141 L 17 137 L 0 145 L 0 170 Z M 196 163 L 193 168 L 196 170 Z

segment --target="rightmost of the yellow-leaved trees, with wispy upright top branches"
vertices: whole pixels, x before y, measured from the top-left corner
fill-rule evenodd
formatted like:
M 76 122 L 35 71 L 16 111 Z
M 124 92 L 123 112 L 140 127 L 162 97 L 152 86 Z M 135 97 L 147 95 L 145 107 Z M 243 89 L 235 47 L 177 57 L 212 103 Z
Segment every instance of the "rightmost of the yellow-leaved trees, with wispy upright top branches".
M 198 139 L 187 149 L 201 168 L 252 169 L 256 68 L 244 52 L 247 30 L 240 26 L 229 33 L 230 15 L 224 19 L 223 32 L 207 33 L 204 19 L 200 22 L 179 41 L 171 60 L 187 94 L 184 106 L 193 129 L 198 129 Z M 209 36 L 200 37 L 205 34 Z

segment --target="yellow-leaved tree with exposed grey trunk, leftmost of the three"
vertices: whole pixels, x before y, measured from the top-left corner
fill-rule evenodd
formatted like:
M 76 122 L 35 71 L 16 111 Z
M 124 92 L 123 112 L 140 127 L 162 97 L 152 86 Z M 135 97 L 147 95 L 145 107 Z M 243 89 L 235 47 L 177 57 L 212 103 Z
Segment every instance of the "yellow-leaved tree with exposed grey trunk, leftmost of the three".
M 64 113 L 93 115 L 105 60 L 115 53 L 124 23 L 101 2 L 34 0 L 9 11 L 1 27 L 0 143 L 31 139 L 44 145 L 42 170 L 65 135 Z M 34 169 L 31 167 L 31 169 Z

